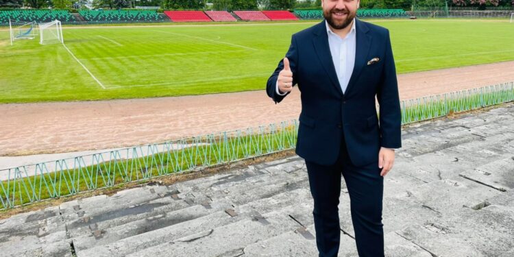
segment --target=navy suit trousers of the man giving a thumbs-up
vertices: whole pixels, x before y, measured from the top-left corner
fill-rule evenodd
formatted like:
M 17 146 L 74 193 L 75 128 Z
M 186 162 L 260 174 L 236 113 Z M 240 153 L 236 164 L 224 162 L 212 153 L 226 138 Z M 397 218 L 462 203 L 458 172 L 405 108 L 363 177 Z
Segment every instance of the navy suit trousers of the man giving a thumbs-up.
M 350 149 L 351 151 L 351 149 Z M 377 153 L 378 156 L 378 153 Z M 339 195 L 341 174 L 350 195 L 355 241 L 360 257 L 384 256 L 382 196 L 384 178 L 378 162 L 355 167 L 350 161 L 344 138 L 335 164 L 323 166 L 306 161 L 310 193 L 314 199 L 314 225 L 319 257 L 337 256 L 341 230 Z

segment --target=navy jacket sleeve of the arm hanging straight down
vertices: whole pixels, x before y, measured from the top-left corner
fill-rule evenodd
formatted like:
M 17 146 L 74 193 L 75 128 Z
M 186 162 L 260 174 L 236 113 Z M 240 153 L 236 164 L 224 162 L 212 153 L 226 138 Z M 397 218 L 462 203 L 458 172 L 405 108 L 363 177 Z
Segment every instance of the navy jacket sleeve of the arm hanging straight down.
M 377 93 L 377 100 L 380 105 L 380 134 L 382 136 L 380 146 L 385 148 L 400 148 L 402 147 L 402 114 L 389 30 L 387 31 L 385 51 L 384 69 Z

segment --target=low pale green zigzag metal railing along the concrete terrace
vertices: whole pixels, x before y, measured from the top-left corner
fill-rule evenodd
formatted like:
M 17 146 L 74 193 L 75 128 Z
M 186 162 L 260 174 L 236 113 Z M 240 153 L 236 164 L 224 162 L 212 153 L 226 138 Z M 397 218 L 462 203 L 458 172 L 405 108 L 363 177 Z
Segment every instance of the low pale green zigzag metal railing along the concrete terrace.
M 402 101 L 402 124 L 514 100 L 514 83 Z M 0 209 L 293 149 L 298 121 L 0 170 Z

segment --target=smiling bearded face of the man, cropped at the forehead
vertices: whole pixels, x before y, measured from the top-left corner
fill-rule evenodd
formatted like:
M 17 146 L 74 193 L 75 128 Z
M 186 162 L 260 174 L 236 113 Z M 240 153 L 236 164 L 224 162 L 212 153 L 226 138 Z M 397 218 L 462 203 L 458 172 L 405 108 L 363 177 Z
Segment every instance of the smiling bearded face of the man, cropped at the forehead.
M 323 0 L 323 16 L 334 29 L 344 29 L 357 15 L 360 0 Z

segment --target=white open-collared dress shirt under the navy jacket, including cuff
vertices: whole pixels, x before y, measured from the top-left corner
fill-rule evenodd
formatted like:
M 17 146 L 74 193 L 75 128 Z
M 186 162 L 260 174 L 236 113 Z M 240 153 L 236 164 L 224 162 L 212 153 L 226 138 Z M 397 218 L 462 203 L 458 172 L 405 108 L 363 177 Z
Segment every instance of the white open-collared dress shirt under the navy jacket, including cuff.
M 332 32 L 327 21 L 325 21 L 325 25 L 328 34 L 328 46 L 330 47 L 330 54 L 332 55 L 332 62 L 334 62 L 334 68 L 336 69 L 337 79 L 339 80 L 339 85 L 341 85 L 341 90 L 345 93 L 348 82 L 350 82 L 350 77 L 352 77 L 352 71 L 354 71 L 355 64 L 357 38 L 355 18 L 352 22 L 352 28 L 350 29 L 350 32 L 346 34 L 345 38 L 341 38 L 339 35 Z M 286 95 L 286 93 L 281 94 L 280 90 L 278 90 L 278 80 L 276 84 L 276 93 L 278 95 Z

